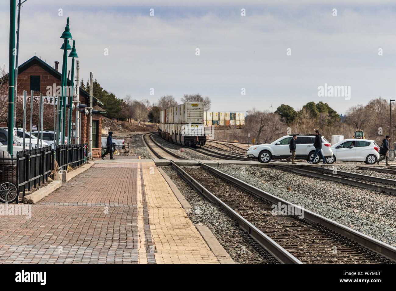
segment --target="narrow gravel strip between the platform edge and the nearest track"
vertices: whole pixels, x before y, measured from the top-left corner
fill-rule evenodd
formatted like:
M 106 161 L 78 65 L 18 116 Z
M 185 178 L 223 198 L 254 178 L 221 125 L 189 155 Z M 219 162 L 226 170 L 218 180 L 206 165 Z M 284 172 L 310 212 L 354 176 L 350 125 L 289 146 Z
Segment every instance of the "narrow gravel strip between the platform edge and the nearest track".
M 161 167 L 175 183 L 192 209 L 187 213 L 194 224 L 208 226 L 219 243 L 237 263 L 267 263 L 265 257 L 254 247 L 251 238 L 223 209 L 200 196 L 183 181 L 171 167 Z

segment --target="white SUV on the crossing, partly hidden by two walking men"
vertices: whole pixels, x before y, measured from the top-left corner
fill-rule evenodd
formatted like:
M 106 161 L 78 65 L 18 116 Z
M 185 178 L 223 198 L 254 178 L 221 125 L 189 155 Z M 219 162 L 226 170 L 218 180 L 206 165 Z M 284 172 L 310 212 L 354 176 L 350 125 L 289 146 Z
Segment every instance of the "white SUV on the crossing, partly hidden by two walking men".
M 289 143 L 293 135 L 285 135 L 272 143 L 263 145 L 254 145 L 247 149 L 248 158 L 256 158 L 261 163 L 268 163 L 272 159 L 284 159 L 289 156 Z M 315 152 L 314 148 L 315 135 L 301 134 L 297 135 L 296 140 L 296 159 L 311 160 Z M 331 144 L 322 137 L 322 153 L 326 158 L 333 157 Z M 316 155 L 314 164 L 319 163 L 319 156 Z

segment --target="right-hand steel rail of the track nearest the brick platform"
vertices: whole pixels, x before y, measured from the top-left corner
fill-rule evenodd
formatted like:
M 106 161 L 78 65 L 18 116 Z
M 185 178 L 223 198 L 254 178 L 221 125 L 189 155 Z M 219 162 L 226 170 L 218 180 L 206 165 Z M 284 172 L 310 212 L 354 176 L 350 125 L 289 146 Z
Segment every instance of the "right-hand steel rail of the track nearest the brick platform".
M 369 249 L 371 252 L 377 253 L 382 257 L 388 258 L 388 259 L 396 262 L 396 248 L 392 247 L 391 245 L 388 245 L 388 244 L 383 243 L 379 240 L 376 240 L 375 238 L 371 238 L 370 236 L 367 236 L 366 234 L 362 234 L 356 230 L 353 230 L 352 228 L 349 228 L 349 227 L 344 226 L 340 223 L 337 223 L 335 221 L 327 219 L 326 217 L 323 217 L 322 215 L 318 215 L 318 214 L 316 214 L 312 211 L 309 211 L 303 207 L 289 203 L 286 200 L 283 200 L 282 198 L 274 196 L 274 195 L 272 195 L 268 192 L 265 192 L 255 186 L 247 184 L 244 181 L 241 181 L 235 177 L 227 175 L 226 173 L 223 173 L 223 172 L 221 172 L 213 167 L 210 167 L 209 165 L 206 165 L 202 162 L 200 162 L 200 166 L 202 169 L 205 169 L 205 170 L 209 171 L 210 173 L 217 175 L 224 181 L 227 181 L 228 183 L 234 183 L 234 184 L 240 186 L 241 188 L 243 188 L 244 190 L 246 190 L 247 192 L 251 192 L 255 195 L 258 195 L 258 196 L 260 196 L 274 204 L 278 204 L 280 202 L 281 204 L 291 205 L 294 207 L 294 209 L 299 209 L 297 211 L 297 213 L 301 213 L 300 211 L 303 211 L 304 218 L 307 219 L 308 221 L 320 224 L 321 226 L 324 226 L 325 228 L 328 228 L 329 230 L 334 231 L 336 234 L 339 234 L 341 236 L 341 238 L 348 238 L 349 240 L 358 243 L 362 247 Z

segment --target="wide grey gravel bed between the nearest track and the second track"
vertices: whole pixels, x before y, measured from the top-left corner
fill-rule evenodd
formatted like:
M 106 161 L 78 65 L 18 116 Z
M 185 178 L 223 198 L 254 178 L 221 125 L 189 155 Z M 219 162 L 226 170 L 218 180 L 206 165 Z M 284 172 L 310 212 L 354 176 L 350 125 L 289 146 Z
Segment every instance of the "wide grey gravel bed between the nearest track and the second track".
M 337 166 L 337 169 L 346 170 L 346 167 L 350 166 Z M 396 246 L 394 195 L 273 168 L 238 165 L 216 168 L 288 202 Z M 378 174 L 373 172 L 373 175 Z

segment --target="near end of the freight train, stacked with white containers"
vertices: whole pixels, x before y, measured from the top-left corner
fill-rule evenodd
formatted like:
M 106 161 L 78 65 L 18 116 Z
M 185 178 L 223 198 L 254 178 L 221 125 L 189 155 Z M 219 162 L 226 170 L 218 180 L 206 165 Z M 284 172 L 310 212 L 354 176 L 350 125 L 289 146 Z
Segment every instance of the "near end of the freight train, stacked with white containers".
M 161 110 L 158 132 L 163 139 L 180 145 L 205 145 L 204 103 L 186 102 Z

